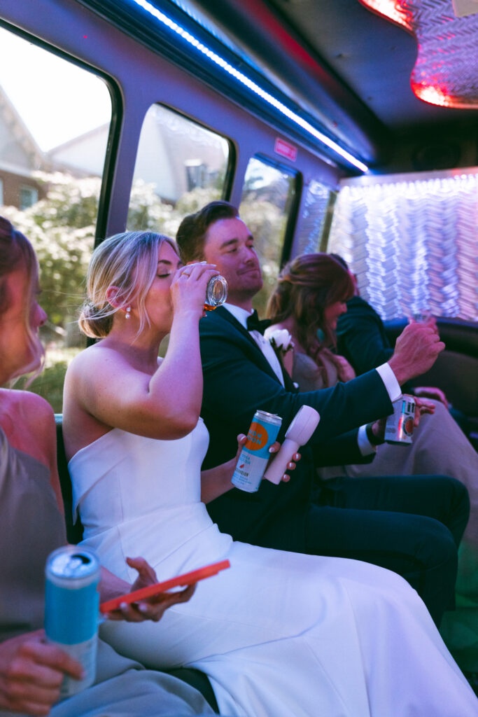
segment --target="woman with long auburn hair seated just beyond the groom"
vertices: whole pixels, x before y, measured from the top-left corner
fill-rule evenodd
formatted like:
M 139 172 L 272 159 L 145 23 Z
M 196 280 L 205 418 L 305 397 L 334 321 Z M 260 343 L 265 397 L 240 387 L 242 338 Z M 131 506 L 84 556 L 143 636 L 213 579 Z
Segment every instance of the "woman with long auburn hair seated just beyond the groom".
M 338 381 L 355 377 L 348 361 L 334 351 L 338 317 L 347 311 L 345 302 L 354 293 L 352 276 L 329 254 L 297 257 L 279 275 L 267 307 L 272 323 L 264 336 L 274 341 L 278 331 L 290 333 L 294 348 L 285 353 L 284 364 L 300 391 L 335 386 Z M 445 474 L 457 478 L 467 486 L 472 503 L 464 540 L 478 546 L 477 454 L 443 404 L 421 397 L 416 397 L 416 404 L 421 413 L 429 415 L 416 417 L 411 445 L 378 445 L 372 463 L 322 468 L 320 475 L 331 478 Z M 373 445 L 383 443 L 383 429 L 381 421 L 368 430 Z

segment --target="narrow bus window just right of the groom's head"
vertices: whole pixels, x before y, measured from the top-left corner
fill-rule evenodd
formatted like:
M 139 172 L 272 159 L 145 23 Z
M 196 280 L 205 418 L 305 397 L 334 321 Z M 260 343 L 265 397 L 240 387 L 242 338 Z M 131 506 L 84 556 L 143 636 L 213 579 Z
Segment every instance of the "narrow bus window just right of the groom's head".
M 292 208 L 297 199 L 297 174 L 264 158 L 252 157 L 244 176 L 239 216 L 249 227 L 262 266 L 264 285 L 254 308 L 265 314 L 279 273 Z

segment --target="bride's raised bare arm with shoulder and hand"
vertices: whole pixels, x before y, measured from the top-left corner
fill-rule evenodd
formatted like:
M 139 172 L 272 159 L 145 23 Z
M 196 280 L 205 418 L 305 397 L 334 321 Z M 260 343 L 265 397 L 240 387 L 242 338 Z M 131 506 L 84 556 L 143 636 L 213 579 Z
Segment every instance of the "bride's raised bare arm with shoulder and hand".
M 210 265 L 197 265 L 191 275 L 176 275 L 171 285 L 174 314 L 168 352 L 153 373 L 135 366 L 134 343 L 125 353 L 113 334 L 77 356 L 65 380 L 67 437 L 75 433 L 85 413 L 105 427 L 152 438 L 175 439 L 193 429 L 203 384 L 199 319 L 206 283 L 216 273 Z M 71 446 L 69 452 L 75 452 Z

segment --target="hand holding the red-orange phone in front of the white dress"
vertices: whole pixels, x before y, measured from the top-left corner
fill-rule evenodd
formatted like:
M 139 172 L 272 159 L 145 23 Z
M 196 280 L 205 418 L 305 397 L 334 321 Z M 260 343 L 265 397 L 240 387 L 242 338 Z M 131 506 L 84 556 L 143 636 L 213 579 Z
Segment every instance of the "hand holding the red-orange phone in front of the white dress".
M 138 571 L 138 577 L 131 586 L 130 592 L 158 582 L 155 571 L 144 558 L 126 558 L 126 562 L 131 568 Z M 105 617 L 110 620 L 126 620 L 127 622 L 143 622 L 143 620 L 158 622 L 168 607 L 176 605 L 178 602 L 188 602 L 195 589 L 196 583 L 188 585 L 178 592 L 160 592 L 140 602 L 124 603 L 117 610 L 108 612 Z

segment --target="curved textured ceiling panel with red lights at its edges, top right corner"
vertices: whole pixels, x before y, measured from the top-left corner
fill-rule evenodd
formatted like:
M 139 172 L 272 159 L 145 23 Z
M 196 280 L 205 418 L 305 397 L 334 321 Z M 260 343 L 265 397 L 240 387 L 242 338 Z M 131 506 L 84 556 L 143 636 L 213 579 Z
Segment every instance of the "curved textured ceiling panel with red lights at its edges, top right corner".
M 419 45 L 411 89 L 431 105 L 478 108 L 478 1 L 476 13 L 457 17 L 452 0 L 358 0 L 408 29 Z M 456 2 L 456 0 L 455 0 Z

